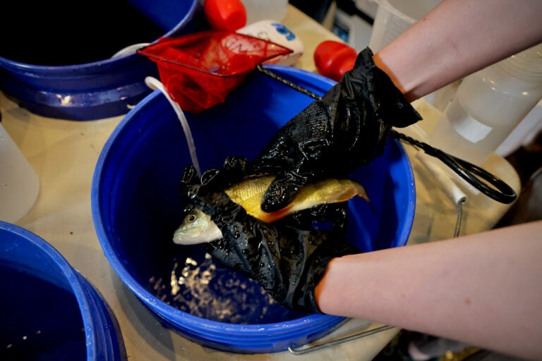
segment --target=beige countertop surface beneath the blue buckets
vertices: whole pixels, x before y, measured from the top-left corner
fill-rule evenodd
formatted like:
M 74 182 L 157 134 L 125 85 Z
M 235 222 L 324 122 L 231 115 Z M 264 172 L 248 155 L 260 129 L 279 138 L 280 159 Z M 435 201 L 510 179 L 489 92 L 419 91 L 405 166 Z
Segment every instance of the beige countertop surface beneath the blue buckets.
M 315 71 L 315 47 L 325 39 L 339 40 L 290 5 L 282 23 L 303 42 L 304 52 L 295 64 L 297 68 Z M 44 118 L 20 108 L 4 94 L 0 94 L 0 106 L 2 125 L 40 180 L 35 204 L 14 223 L 47 240 L 100 291 L 119 321 L 129 360 L 372 360 L 399 331 L 390 329 L 307 355 L 292 355 L 287 351 L 240 355 L 204 348 L 164 328 L 116 275 L 104 257 L 92 223 L 90 188 L 95 165 L 104 143 L 123 116 L 97 121 Z M 421 122 L 422 130 L 427 130 L 438 119 L 439 112 L 423 100 L 415 106 L 425 119 Z M 418 161 L 416 149 L 410 145 L 405 148 L 414 169 L 417 193 L 409 244 L 451 238 L 457 218 L 455 204 Z M 505 159 L 493 154 L 483 167 L 519 192 L 517 173 Z M 464 192 L 467 200 L 460 234 L 493 227 L 510 207 L 485 195 L 473 195 L 466 188 Z M 376 326 L 380 325 L 350 319 L 315 344 Z

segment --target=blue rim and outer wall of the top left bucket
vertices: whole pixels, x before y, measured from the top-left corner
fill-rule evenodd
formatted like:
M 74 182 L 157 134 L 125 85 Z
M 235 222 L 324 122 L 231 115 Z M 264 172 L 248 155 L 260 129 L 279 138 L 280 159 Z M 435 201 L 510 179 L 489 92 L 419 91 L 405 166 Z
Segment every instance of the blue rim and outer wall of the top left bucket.
M 191 1 L 187 13 L 163 37 L 193 30 L 200 4 L 197 0 Z M 141 11 L 145 9 L 144 2 L 129 2 Z M 160 19 L 153 20 L 160 23 Z M 111 74 L 102 77 L 100 73 L 104 71 Z M 74 77 L 77 73 L 81 75 Z M 119 74 L 131 80 L 117 80 Z M 70 121 L 94 121 L 126 114 L 131 106 L 152 92 L 141 74 L 157 77 L 158 71 L 152 61 L 135 52 L 71 66 L 38 66 L 0 56 L 0 90 L 8 99 L 32 114 Z M 97 78 L 102 84 L 79 90 L 77 85 L 73 89 L 65 88 L 69 83 L 81 83 L 90 78 Z M 59 80 L 58 87 L 52 87 Z

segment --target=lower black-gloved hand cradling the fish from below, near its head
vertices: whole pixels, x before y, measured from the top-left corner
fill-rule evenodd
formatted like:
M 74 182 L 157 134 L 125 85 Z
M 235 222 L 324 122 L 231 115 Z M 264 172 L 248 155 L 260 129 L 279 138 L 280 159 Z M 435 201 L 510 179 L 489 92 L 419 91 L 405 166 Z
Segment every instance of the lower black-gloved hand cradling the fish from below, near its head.
M 228 158 L 222 169 L 205 171 L 201 180 L 192 166 L 184 172 L 181 193 L 187 210 L 199 207 L 222 231 L 223 238 L 205 243 L 205 250 L 224 267 L 258 281 L 281 305 L 320 312 L 314 288 L 330 259 L 361 252 L 344 239 L 344 219 L 340 219 L 344 213 L 337 212 L 334 205 L 304 212 L 301 221 L 292 215 L 267 224 L 246 214 L 223 192 L 245 175 L 246 159 L 234 157 Z M 312 231 L 303 226 L 312 224 L 307 219 L 331 220 L 334 226 Z

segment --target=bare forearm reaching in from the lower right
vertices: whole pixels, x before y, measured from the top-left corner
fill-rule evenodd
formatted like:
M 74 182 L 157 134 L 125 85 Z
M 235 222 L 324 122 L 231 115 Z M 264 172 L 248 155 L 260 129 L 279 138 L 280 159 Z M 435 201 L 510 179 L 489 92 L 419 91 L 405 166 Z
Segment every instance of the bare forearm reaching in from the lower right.
M 542 221 L 332 259 L 320 310 L 542 355 Z

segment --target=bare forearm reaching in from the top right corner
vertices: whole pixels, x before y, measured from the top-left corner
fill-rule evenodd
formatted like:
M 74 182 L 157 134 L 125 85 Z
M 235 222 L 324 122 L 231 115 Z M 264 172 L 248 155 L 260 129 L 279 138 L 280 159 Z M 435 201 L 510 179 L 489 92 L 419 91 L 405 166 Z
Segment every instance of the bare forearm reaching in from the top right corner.
M 443 0 L 375 54 L 414 101 L 542 42 L 540 0 Z

